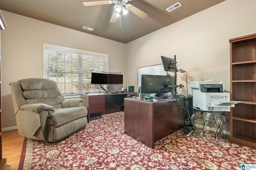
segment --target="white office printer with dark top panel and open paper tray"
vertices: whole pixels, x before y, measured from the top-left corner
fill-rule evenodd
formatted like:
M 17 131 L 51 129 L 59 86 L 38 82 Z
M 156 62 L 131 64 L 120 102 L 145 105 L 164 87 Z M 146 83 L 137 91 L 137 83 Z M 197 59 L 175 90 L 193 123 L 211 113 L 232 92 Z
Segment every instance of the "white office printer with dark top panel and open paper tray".
M 190 82 L 193 89 L 193 106 L 204 111 L 230 111 L 239 102 L 230 102 L 225 84 L 212 84 L 212 80 Z

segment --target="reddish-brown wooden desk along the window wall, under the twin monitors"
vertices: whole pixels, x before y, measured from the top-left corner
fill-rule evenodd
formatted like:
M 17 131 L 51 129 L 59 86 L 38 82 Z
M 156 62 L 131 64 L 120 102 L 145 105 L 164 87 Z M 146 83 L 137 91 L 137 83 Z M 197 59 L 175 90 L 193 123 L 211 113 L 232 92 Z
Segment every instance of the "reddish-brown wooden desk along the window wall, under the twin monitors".
M 129 95 L 136 95 L 137 92 L 126 93 L 90 93 L 82 94 L 81 98 L 84 99 L 84 106 L 88 108 L 90 116 L 103 115 L 124 110 L 124 98 Z

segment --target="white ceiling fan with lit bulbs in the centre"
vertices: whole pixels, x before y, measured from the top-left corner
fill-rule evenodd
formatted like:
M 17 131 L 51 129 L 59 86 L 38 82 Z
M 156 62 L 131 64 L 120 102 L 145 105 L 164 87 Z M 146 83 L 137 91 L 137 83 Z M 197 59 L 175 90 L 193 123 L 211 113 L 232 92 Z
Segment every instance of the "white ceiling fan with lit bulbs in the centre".
M 125 16 L 128 13 L 128 11 L 133 12 L 134 14 L 136 14 L 142 19 L 148 16 L 148 14 L 136 8 L 135 6 L 132 6 L 131 4 L 126 4 L 128 1 L 131 1 L 131 0 L 99 0 L 99 1 L 83 2 L 83 4 L 84 6 L 94 6 L 94 5 L 104 5 L 104 4 L 114 3 L 115 4 L 114 11 L 110 19 L 110 22 L 116 22 L 118 17 L 120 17 L 121 15 Z

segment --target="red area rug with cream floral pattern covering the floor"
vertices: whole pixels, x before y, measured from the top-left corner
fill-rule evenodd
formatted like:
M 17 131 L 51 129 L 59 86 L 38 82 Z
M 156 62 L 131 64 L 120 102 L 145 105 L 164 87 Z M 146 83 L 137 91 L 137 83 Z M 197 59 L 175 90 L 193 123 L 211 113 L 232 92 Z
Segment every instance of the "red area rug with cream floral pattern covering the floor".
M 214 143 L 181 129 L 157 141 L 154 149 L 124 134 L 124 112 L 93 117 L 86 128 L 56 143 L 25 138 L 18 170 L 241 170 L 255 164 L 256 150 Z

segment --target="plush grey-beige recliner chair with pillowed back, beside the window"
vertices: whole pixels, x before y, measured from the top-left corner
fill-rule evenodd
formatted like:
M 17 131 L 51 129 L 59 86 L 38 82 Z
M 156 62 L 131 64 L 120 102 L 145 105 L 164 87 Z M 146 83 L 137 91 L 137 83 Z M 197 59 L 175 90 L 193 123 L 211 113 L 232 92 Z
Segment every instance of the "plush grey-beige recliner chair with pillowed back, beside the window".
M 86 127 L 83 99 L 65 99 L 54 80 L 26 78 L 10 82 L 18 133 L 56 142 Z

